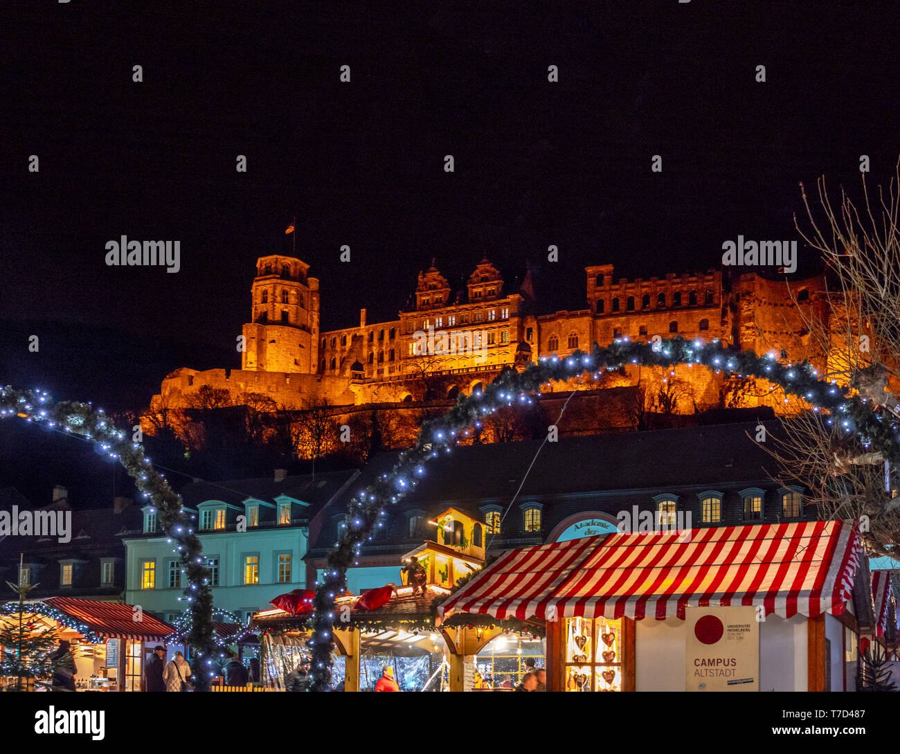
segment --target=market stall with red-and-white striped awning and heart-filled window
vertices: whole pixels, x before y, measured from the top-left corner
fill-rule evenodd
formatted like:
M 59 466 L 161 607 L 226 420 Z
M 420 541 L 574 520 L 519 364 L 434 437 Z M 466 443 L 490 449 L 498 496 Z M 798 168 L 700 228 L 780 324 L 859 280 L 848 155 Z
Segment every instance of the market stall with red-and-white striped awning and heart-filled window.
M 841 521 L 586 537 L 503 554 L 438 622 L 543 622 L 554 691 L 842 690 L 869 624 L 860 560 Z

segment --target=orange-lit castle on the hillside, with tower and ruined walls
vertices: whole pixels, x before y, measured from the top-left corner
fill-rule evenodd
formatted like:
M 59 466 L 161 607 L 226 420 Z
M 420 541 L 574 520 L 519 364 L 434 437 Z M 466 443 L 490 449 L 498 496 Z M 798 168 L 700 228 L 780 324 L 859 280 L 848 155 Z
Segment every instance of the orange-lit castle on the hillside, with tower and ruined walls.
M 236 403 L 252 393 L 284 408 L 453 399 L 504 368 L 617 337 L 720 338 L 757 353 L 786 349 L 791 358 L 815 359 L 809 321 L 825 311 L 821 277 L 786 284 L 714 271 L 617 280 L 613 265 L 596 265 L 585 269 L 583 308 L 541 314 L 529 275 L 511 292 L 482 259 L 453 291 L 432 261 L 419 273 L 414 307 L 398 319 L 370 323 L 363 309 L 358 326 L 321 332 L 319 281 L 308 271 L 291 256 L 260 257 L 241 369 L 178 369 L 166 376 L 151 410 L 185 408 L 203 386 L 229 390 Z M 695 404 L 721 403 L 721 379 L 676 370 L 690 381 Z M 619 384 L 635 384 L 647 372 L 626 369 Z

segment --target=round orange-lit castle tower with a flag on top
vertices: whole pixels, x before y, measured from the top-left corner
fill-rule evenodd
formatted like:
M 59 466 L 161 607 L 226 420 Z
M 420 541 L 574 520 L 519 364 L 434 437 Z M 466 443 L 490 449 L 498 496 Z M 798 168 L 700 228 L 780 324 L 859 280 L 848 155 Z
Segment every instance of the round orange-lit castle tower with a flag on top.
M 250 289 L 251 321 L 244 325 L 248 372 L 310 374 L 319 361 L 319 281 L 310 265 L 276 254 L 257 259 Z

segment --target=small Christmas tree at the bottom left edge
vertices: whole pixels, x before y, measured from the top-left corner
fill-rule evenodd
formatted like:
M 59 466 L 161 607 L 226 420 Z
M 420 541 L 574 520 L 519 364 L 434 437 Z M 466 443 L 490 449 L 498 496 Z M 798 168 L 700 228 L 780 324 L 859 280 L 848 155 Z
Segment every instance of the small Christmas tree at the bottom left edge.
M 21 561 L 21 559 L 20 559 Z M 51 652 L 57 647 L 56 629 L 35 631 L 31 614 L 25 607 L 25 597 L 31 589 L 20 562 L 19 583 L 9 588 L 19 595 L 19 604 L 0 615 L 0 646 L 4 648 L 0 658 L 0 678 L 5 684 L 0 691 L 27 691 L 29 681 L 49 678 L 53 673 Z

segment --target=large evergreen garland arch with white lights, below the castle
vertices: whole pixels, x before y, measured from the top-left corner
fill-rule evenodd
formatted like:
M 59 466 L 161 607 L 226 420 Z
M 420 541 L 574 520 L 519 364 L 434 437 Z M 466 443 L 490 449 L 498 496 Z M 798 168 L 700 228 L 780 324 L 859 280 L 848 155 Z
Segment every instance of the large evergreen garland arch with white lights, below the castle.
M 326 557 L 326 567 L 316 582 L 315 612 L 311 616 L 313 633 L 311 691 L 327 691 L 331 686 L 335 598 L 347 588 L 347 569 L 357 564 L 363 544 L 372 539 L 382 523 L 386 508 L 396 503 L 416 485 L 425 473 L 425 464 L 440 453 L 450 453 L 469 428 L 481 427 L 481 419 L 503 406 L 527 405 L 534 401 L 543 385 L 568 381 L 585 373 L 599 380 L 600 374 L 628 364 L 672 366 L 689 364 L 716 373 L 753 376 L 783 388 L 788 395 L 802 399 L 814 411 L 825 411 L 829 418 L 860 444 L 881 455 L 895 466 L 900 462 L 900 432 L 896 417 L 873 406 L 860 396 L 851 396 L 848 388 L 819 379 L 812 364 L 780 364 L 777 356 L 758 356 L 752 351 L 735 351 L 717 338 L 704 343 L 674 337 L 652 343 L 619 338 L 611 346 L 594 344 L 590 353 L 542 357 L 521 373 L 508 369 L 483 390 L 460 395 L 454 408 L 443 417 L 425 422 L 419 437 L 409 450 L 400 453 L 389 473 L 350 500 L 347 527 Z

